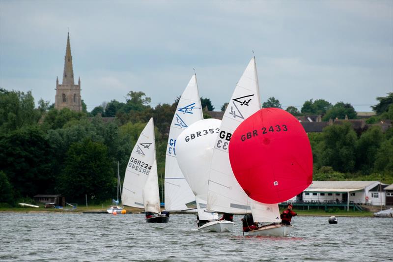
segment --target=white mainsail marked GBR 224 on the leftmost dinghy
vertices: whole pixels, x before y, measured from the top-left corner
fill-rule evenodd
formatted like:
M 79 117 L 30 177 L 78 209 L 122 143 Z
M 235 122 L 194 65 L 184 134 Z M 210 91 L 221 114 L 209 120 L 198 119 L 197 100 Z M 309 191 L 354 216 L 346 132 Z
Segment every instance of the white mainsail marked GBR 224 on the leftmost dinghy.
M 127 164 L 122 204 L 144 208 L 143 187 L 156 159 L 153 118 L 143 128 Z

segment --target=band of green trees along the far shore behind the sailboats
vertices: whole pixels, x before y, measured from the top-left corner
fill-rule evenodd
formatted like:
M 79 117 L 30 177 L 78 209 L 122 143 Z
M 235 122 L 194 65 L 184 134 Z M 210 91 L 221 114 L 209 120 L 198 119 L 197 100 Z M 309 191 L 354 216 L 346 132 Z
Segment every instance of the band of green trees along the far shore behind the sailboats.
M 56 110 L 42 99 L 36 107 L 30 91 L 0 89 L 0 205 L 28 202 L 36 194 L 61 194 L 67 202 L 83 202 L 85 194 L 90 203 L 113 198 L 117 161 L 123 179 L 131 150 L 150 117 L 155 124 L 161 192 L 168 131 L 178 100 L 153 108 L 143 92 L 130 91 L 124 102 L 112 100 L 91 112 L 84 105 L 83 112 L 74 112 Z M 268 100 L 263 107 L 272 106 L 269 102 L 281 106 L 276 100 Z M 377 101 L 375 118 L 393 119 L 392 93 Z M 203 108 L 214 110 L 210 99 L 201 98 L 201 103 Z M 342 104 L 337 108 L 351 108 Z M 319 99 L 306 101 L 305 105 L 302 113 L 322 111 L 326 116 L 337 104 L 332 106 Z M 204 117 L 210 116 L 205 112 Z M 392 128 L 383 133 L 373 126 L 357 134 L 349 124 L 333 125 L 321 134 L 309 134 L 309 139 L 314 180 L 393 182 Z

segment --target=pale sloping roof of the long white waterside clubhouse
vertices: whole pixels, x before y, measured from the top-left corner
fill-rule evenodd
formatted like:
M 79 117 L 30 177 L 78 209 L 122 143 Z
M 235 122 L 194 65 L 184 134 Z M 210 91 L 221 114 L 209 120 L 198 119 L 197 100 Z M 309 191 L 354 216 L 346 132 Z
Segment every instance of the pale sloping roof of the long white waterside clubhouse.
M 313 181 L 305 192 L 353 192 L 364 190 L 365 187 L 379 181 Z

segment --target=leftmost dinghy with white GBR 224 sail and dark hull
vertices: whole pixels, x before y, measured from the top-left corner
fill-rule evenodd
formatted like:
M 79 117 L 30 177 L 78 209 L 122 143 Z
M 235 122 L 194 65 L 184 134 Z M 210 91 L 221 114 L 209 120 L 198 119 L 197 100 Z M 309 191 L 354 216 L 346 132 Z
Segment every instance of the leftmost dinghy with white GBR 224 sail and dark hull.
M 146 213 L 151 214 L 146 216 L 146 222 L 167 223 L 169 220 L 169 214 L 162 214 L 160 209 L 153 118 L 144 127 L 130 155 L 124 176 L 122 203 L 144 208 Z

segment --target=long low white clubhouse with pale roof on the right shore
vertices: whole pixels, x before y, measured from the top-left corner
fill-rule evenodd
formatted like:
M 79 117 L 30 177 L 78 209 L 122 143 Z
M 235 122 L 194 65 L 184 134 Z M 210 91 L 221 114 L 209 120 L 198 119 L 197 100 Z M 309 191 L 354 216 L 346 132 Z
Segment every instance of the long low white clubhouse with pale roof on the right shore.
M 313 181 L 293 201 L 303 202 L 347 202 L 355 204 L 385 205 L 379 187 L 386 187 L 379 181 Z

